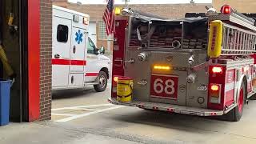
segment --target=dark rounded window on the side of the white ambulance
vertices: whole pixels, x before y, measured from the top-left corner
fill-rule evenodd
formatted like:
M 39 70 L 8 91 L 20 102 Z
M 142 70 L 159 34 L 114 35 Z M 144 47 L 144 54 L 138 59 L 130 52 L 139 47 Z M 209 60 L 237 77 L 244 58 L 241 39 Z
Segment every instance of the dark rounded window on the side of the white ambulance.
M 69 38 L 69 27 L 65 25 L 58 25 L 57 28 L 57 41 L 67 42 Z

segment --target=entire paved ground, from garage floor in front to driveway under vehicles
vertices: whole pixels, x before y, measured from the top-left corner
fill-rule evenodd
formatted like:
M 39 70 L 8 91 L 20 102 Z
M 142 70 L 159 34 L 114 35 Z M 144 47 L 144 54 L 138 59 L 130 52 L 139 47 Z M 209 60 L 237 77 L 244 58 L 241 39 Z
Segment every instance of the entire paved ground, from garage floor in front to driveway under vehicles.
M 245 106 L 240 122 L 114 106 L 106 91 L 93 86 L 53 94 L 52 120 L 11 123 L 0 129 L 1 144 L 174 143 L 255 144 L 256 101 Z

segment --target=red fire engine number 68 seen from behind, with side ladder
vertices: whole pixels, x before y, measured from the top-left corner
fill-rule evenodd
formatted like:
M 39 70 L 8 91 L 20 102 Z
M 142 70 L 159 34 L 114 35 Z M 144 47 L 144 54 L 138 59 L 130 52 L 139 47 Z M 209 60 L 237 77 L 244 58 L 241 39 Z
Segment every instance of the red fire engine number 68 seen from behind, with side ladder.
M 254 19 L 230 6 L 178 20 L 122 11 L 109 102 L 240 120 L 256 88 Z

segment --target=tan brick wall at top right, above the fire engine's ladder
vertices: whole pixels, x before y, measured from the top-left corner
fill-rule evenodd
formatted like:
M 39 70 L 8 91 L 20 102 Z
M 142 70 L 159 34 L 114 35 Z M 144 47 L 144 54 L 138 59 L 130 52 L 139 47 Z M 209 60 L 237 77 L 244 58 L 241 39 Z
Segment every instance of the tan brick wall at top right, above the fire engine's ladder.
M 221 6 L 228 4 L 240 13 L 256 13 L 255 0 L 213 0 L 215 9 L 220 10 Z

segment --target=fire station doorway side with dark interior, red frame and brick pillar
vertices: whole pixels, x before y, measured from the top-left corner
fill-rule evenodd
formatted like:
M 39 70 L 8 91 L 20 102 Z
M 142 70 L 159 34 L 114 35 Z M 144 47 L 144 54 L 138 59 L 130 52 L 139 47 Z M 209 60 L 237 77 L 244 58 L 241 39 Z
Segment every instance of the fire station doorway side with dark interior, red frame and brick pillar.
M 0 44 L 15 75 L 10 91 L 12 122 L 50 119 L 51 6 L 51 0 L 0 2 Z M 9 78 L 4 69 L 1 65 L 1 78 Z

